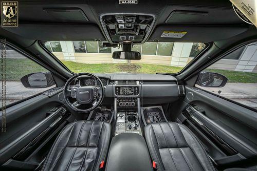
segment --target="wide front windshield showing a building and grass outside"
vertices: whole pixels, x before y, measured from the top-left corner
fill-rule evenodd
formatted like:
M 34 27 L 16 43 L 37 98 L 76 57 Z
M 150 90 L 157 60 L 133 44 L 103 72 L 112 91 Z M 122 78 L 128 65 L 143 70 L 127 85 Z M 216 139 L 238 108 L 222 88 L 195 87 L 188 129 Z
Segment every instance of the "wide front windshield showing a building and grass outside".
M 121 47 L 103 47 L 102 41 L 47 41 L 50 50 L 72 72 L 177 73 L 206 48 L 201 42 L 145 42 L 133 45 L 141 60 L 113 59 Z

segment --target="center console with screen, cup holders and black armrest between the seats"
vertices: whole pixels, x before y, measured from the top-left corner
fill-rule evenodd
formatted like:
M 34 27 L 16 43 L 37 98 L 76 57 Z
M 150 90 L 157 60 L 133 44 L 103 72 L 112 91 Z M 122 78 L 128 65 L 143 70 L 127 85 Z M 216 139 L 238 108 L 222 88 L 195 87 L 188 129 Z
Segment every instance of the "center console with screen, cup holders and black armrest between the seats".
M 115 81 L 113 92 L 115 136 L 109 147 L 105 170 L 153 170 L 140 127 L 139 81 Z

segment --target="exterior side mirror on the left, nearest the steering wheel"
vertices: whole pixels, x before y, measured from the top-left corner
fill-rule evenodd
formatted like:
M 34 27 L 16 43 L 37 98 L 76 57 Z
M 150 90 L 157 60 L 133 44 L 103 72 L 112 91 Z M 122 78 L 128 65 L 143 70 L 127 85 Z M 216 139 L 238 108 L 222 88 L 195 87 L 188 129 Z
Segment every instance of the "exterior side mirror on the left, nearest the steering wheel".
M 22 77 L 21 81 L 26 88 L 47 88 L 55 84 L 50 72 L 31 73 Z

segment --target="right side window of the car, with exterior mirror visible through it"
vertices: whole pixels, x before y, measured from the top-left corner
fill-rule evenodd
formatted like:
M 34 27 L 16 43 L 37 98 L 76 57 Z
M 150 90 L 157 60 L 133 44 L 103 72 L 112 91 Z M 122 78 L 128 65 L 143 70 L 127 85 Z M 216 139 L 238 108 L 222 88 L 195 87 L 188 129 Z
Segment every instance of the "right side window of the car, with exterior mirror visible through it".
M 195 87 L 257 110 L 257 42 L 238 48 L 206 68 Z

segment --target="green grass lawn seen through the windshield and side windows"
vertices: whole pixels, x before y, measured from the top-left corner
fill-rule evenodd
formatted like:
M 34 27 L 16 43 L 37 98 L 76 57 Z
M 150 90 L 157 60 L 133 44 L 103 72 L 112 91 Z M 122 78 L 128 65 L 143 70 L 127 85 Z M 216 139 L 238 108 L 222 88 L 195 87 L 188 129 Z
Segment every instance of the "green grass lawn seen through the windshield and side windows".
M 182 70 L 181 67 L 153 65 L 145 63 L 100 63 L 87 64 L 72 61 L 62 61 L 72 72 L 89 73 L 113 73 L 113 72 L 139 72 L 139 73 L 176 73 Z M 30 73 L 45 72 L 43 67 L 39 66 L 30 59 L 6 59 L 6 78 L 7 81 L 20 81 L 20 79 Z M 225 75 L 229 82 L 257 82 L 257 73 L 246 73 L 237 71 L 209 69 L 208 71 Z

